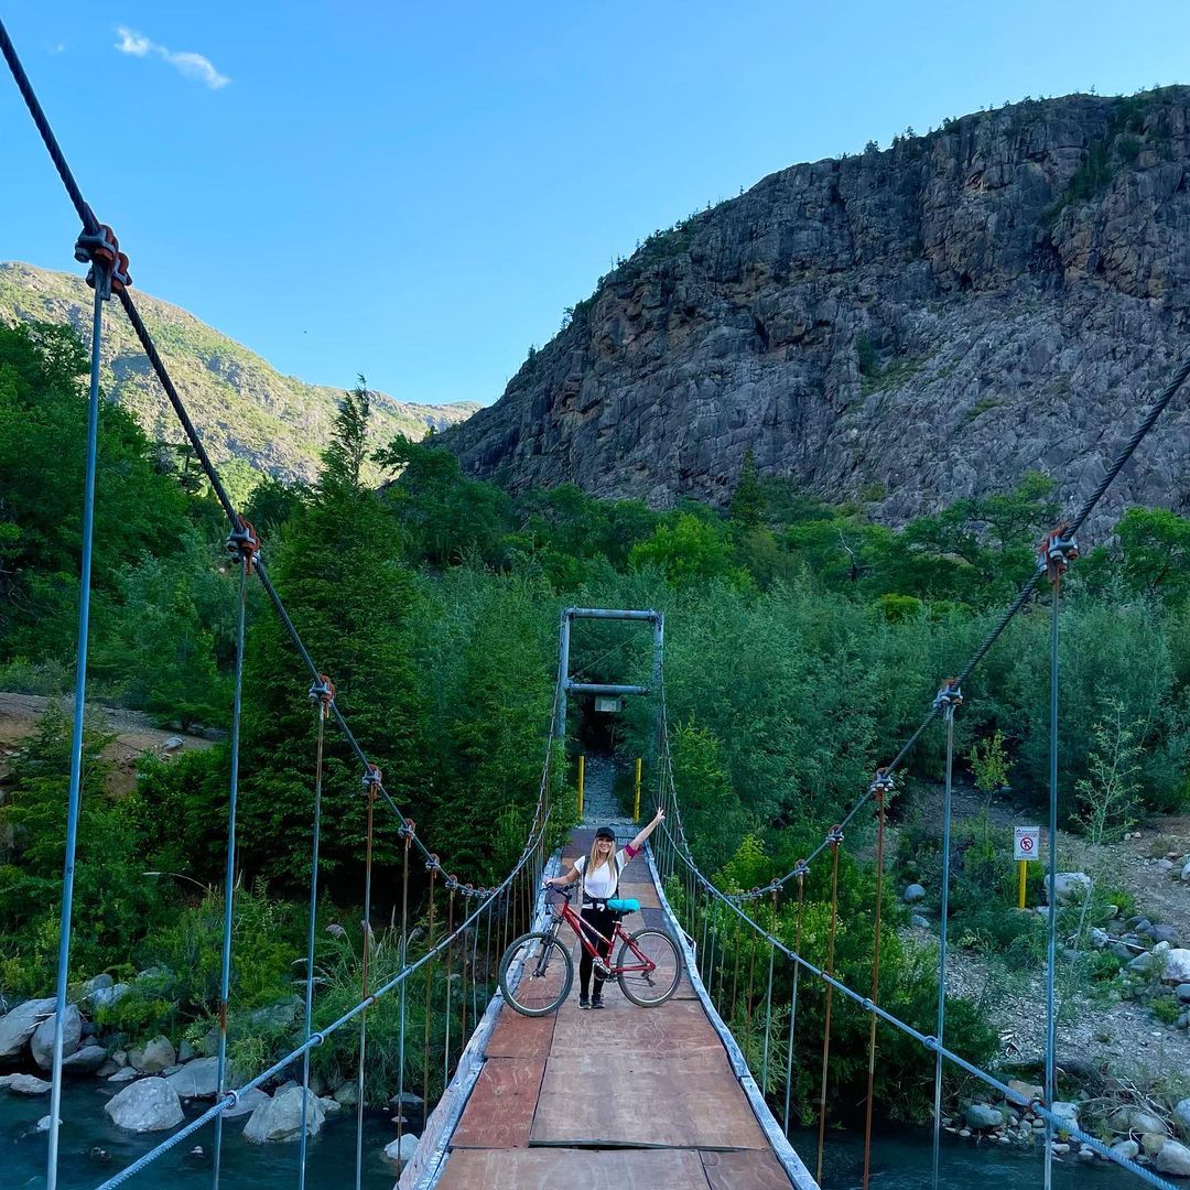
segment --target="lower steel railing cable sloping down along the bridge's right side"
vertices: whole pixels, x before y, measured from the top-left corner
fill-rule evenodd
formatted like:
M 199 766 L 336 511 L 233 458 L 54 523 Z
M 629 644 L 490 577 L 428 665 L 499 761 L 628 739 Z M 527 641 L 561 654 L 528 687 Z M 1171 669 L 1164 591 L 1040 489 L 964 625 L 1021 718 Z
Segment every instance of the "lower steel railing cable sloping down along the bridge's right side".
M 960 1070 L 965 1071 L 972 1077 L 979 1079 L 987 1086 L 997 1091 L 1006 1098 L 1006 1101 L 1015 1104 L 1016 1107 L 1027 1108 L 1028 1110 L 1033 1111 L 1035 1115 L 1040 1116 L 1053 1128 L 1060 1129 L 1063 1133 L 1071 1136 L 1073 1140 L 1077 1140 L 1084 1147 L 1090 1148 L 1100 1157 L 1103 1157 L 1107 1160 L 1113 1161 L 1115 1165 L 1119 1165 L 1121 1169 L 1127 1170 L 1129 1173 L 1136 1175 L 1139 1178 L 1147 1182 L 1150 1185 L 1158 1186 L 1159 1190 L 1177 1190 L 1177 1186 L 1175 1186 L 1173 1183 L 1167 1182 L 1165 1178 L 1160 1177 L 1160 1175 L 1154 1173 L 1151 1169 L 1147 1169 L 1144 1165 L 1138 1165 L 1130 1158 L 1126 1158 L 1120 1153 L 1113 1152 L 1107 1145 L 1103 1144 L 1103 1141 L 1098 1140 L 1096 1136 L 1091 1136 L 1090 1134 L 1083 1132 L 1077 1126 L 1072 1125 L 1067 1116 L 1058 1116 L 1046 1104 L 1040 1103 L 1038 1100 L 1029 1100 L 1020 1091 L 1008 1086 L 1006 1083 L 1001 1082 L 994 1075 L 990 1075 L 988 1071 L 982 1070 L 979 1066 L 975 1065 L 975 1063 L 967 1061 L 960 1054 L 956 1053 L 952 1050 L 946 1048 L 946 1046 L 944 1046 L 938 1038 L 925 1034 L 920 1029 L 915 1029 L 908 1022 L 902 1021 L 900 1017 L 888 1012 L 888 1009 L 882 1008 L 879 1004 L 875 1003 L 870 996 L 864 996 L 858 991 L 853 991 L 851 988 L 847 987 L 847 984 L 845 984 L 841 979 L 837 978 L 835 976 L 832 976 L 826 969 L 820 967 L 816 964 L 809 962 L 809 959 L 797 953 L 797 951 L 791 950 L 789 946 L 782 942 L 779 938 L 777 938 L 774 934 L 770 934 L 763 926 L 758 925 L 744 912 L 744 909 L 740 907 L 740 904 L 737 902 L 735 898 L 727 896 L 719 888 L 716 888 L 706 876 L 703 876 L 702 872 L 697 869 L 697 865 L 694 864 L 694 862 L 684 854 L 683 847 L 678 844 L 677 835 L 675 835 L 671 832 L 669 826 L 669 816 L 671 814 L 675 816 L 675 819 L 679 821 L 679 810 L 677 807 L 676 791 L 671 791 L 666 796 L 665 810 L 666 810 L 666 820 L 662 822 L 660 829 L 663 835 L 669 837 L 670 847 L 668 850 L 668 854 L 670 857 L 679 859 L 683 864 L 690 866 L 695 879 L 697 881 L 699 885 L 702 888 L 702 890 L 704 891 L 704 894 L 709 900 L 722 906 L 725 913 L 734 914 L 740 922 L 746 923 L 756 933 L 762 934 L 770 946 L 774 946 L 778 953 L 783 954 L 790 963 L 794 964 L 795 970 L 804 970 L 807 973 L 820 979 L 832 991 L 838 992 L 839 995 L 846 997 L 852 1003 L 857 1004 L 865 1013 L 873 1014 L 885 1025 L 900 1031 L 906 1036 L 909 1036 L 913 1040 L 917 1041 L 926 1050 L 931 1051 L 934 1054 L 940 1056 L 947 1061 L 953 1063 Z M 788 1083 L 787 1083 L 787 1091 L 788 1091 Z

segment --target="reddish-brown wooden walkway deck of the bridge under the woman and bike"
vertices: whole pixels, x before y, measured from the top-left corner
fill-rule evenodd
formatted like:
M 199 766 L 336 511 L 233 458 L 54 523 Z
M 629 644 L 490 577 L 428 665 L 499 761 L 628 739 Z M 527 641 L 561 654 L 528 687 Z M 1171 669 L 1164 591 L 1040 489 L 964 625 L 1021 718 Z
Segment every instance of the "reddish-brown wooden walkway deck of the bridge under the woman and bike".
M 590 839 L 575 832 L 564 857 Z M 664 923 L 643 857 L 620 895 L 640 901 L 646 925 Z M 581 1012 L 577 942 L 575 957 L 575 988 L 557 1013 L 501 1008 L 441 1190 L 790 1186 L 689 979 L 659 1008 L 637 1008 L 612 982 L 607 1008 Z

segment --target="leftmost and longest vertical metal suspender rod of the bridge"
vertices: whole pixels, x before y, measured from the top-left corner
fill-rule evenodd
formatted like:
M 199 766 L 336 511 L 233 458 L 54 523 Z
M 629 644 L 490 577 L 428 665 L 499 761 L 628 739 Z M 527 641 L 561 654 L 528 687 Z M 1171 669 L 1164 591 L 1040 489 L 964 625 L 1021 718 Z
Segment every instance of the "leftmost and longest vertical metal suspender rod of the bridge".
M 0 23 L 0 37 L 7 57 L 12 43 Z M 15 54 L 10 65 L 20 63 Z M 24 71 L 21 71 L 21 76 Z M 26 80 L 27 83 L 27 80 Z M 38 111 L 40 111 L 38 108 Z M 75 649 L 75 704 L 70 728 L 70 787 L 67 794 L 67 835 L 62 862 L 62 910 L 58 920 L 58 970 L 54 992 L 54 1056 L 50 1064 L 50 1136 L 46 1159 L 46 1186 L 56 1190 L 58 1180 L 58 1115 L 62 1110 L 62 1051 L 67 1012 L 67 983 L 70 975 L 70 919 L 74 912 L 75 856 L 79 848 L 79 816 L 82 810 L 82 737 L 87 703 L 87 653 L 90 638 L 90 569 L 95 538 L 95 471 L 99 462 L 99 364 L 104 332 L 104 302 L 111 292 L 111 271 L 96 261 L 95 301 L 90 324 L 90 388 L 87 400 L 87 462 L 83 476 L 82 557 L 79 568 L 79 635 Z

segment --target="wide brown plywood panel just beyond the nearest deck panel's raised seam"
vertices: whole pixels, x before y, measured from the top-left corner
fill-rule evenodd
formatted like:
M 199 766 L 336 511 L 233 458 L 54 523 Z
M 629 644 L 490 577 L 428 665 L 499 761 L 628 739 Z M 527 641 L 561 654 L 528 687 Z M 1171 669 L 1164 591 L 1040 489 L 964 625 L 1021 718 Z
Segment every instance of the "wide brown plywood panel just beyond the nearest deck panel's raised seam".
M 610 1056 L 609 1056 L 610 1059 Z M 768 1141 L 731 1073 L 685 1073 L 679 1059 L 609 1060 L 621 1094 L 600 1078 L 575 1078 L 550 1060 L 541 1081 L 531 1145 L 600 1148 L 765 1148 Z

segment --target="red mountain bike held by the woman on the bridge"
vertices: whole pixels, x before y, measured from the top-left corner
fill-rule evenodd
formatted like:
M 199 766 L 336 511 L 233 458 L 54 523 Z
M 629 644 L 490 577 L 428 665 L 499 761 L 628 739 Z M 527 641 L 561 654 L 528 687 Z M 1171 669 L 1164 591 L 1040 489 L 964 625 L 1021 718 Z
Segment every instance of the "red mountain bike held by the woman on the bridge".
M 682 964 L 674 939 L 664 929 L 638 929 L 630 934 L 620 923 L 620 914 L 639 908 L 635 901 L 621 902 L 619 908 L 615 901 L 608 902 L 616 920 L 612 937 L 607 938 L 570 907 L 570 889 L 546 889 L 545 895 L 553 909 L 550 928 L 521 934 L 500 960 L 500 990 L 518 1013 L 545 1016 L 570 995 L 575 964 L 570 952 L 558 941 L 564 921 L 594 959 L 595 971 L 605 979 L 614 977 L 634 1004 L 653 1008 L 664 1004 L 677 991 Z M 619 939 L 620 952 L 614 964 L 600 958 L 595 950 L 595 941 L 600 939 L 613 945 Z

